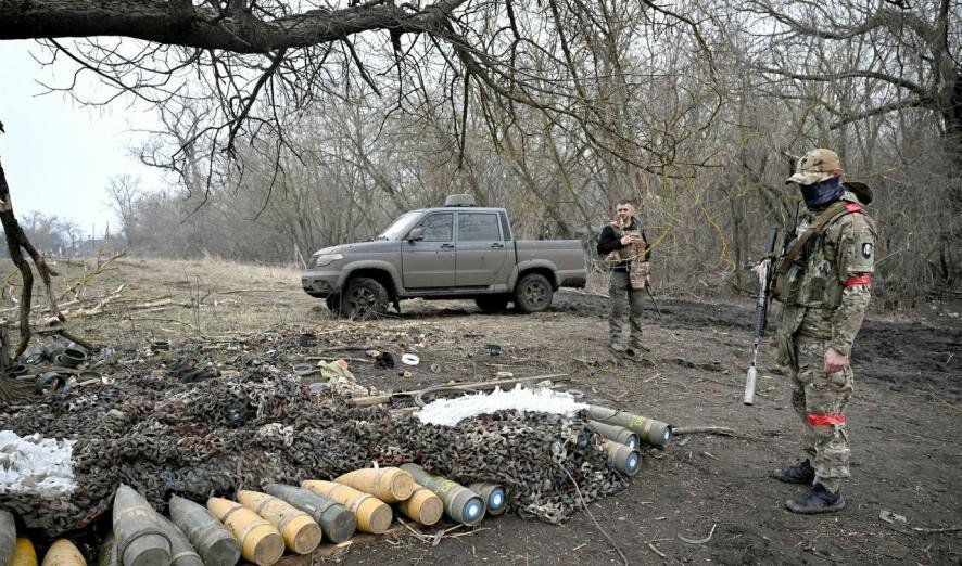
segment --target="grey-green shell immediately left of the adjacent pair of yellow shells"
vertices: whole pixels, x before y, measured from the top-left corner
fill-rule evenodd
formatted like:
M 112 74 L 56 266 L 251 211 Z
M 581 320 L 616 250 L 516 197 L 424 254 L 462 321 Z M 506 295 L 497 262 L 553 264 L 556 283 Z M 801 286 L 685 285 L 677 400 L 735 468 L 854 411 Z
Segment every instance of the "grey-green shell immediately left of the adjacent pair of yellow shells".
M 240 559 L 240 544 L 233 535 L 201 504 L 170 498 L 170 519 L 187 535 L 207 566 L 233 566 Z

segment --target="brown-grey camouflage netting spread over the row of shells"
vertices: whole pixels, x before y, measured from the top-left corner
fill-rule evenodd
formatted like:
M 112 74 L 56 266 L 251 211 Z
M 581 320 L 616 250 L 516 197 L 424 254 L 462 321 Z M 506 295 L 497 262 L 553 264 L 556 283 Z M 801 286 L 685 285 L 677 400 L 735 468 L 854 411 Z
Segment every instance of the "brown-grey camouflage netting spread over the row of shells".
M 97 522 L 122 483 L 166 512 L 172 493 L 203 502 L 372 462 L 418 462 L 463 484 L 502 484 L 516 511 L 552 523 L 580 506 L 571 479 L 588 502 L 628 486 L 582 417 L 501 412 L 425 425 L 312 395 L 271 366 L 194 384 L 153 372 L 53 394 L 0 413 L 0 429 L 76 441 L 69 499 L 0 496 L 0 506 L 51 537 Z

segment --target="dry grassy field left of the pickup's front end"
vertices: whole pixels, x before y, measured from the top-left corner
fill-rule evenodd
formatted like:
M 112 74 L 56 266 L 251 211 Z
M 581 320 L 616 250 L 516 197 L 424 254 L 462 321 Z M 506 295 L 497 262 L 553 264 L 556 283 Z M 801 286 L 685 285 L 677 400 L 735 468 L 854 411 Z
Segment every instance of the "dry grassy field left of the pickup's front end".
M 60 272 L 54 279 L 55 294 L 67 313 L 96 309 L 115 295 L 102 305 L 101 313 L 69 319 L 71 327 L 93 340 L 210 335 L 330 321 L 324 301 L 302 291 L 301 271 L 294 266 L 122 258 L 94 275 L 96 258 L 55 260 L 51 267 Z M 21 279 L 10 260 L 0 262 L 0 268 L 5 275 L 0 316 L 13 320 Z M 71 292 L 85 275 L 86 284 Z M 47 307 L 37 284 L 34 306 L 36 320 Z

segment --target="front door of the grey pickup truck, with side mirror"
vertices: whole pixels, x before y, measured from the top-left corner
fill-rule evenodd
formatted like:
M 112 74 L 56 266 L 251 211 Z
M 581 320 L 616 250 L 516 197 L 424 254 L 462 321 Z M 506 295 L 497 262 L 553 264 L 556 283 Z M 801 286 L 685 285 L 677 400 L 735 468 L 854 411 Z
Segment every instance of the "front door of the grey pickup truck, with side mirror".
M 415 228 L 425 239 L 401 244 L 401 271 L 405 288 L 454 286 L 454 213 L 432 213 Z

